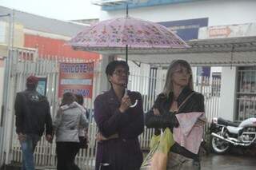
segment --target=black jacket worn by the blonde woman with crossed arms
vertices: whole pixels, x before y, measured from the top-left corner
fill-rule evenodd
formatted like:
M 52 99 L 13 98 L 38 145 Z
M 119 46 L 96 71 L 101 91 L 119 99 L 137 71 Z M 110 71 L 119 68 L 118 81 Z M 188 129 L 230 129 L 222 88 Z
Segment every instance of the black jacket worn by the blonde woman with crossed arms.
M 177 102 L 178 107 L 182 104 L 182 101 L 186 100 L 186 97 L 193 93 L 192 96 L 181 106 L 178 113 L 191 113 L 191 112 L 204 112 L 204 97 L 201 93 L 196 93 L 185 87 L 182 89 L 182 93 L 178 96 Z M 161 115 L 154 116 L 153 110 L 151 109 L 146 113 L 146 127 L 147 128 L 170 128 L 171 131 L 177 125 L 178 121 L 174 113 L 170 113 L 170 104 L 174 100 L 174 94 L 170 93 L 168 97 L 164 94 L 159 94 L 156 101 L 154 102 L 153 108 L 159 109 Z M 176 113 L 176 114 L 178 114 Z M 183 156 L 198 159 L 198 155 L 188 151 L 179 144 L 175 143 L 172 148 L 172 152 L 182 154 Z

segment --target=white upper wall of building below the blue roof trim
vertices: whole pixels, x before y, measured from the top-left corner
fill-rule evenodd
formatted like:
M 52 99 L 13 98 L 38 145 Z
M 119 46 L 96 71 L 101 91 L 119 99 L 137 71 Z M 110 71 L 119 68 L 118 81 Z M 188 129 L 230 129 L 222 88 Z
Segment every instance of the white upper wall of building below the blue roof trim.
M 209 18 L 209 26 L 256 22 L 255 0 L 209 0 L 130 9 L 129 14 L 152 22 Z M 100 20 L 125 17 L 125 10 L 102 11 Z

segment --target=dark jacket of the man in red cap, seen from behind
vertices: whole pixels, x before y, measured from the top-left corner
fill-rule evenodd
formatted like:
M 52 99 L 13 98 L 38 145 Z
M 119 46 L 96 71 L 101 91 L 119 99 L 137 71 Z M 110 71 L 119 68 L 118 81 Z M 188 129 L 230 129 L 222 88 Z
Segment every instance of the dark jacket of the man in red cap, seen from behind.
M 35 90 L 17 93 L 15 104 L 16 132 L 42 136 L 53 133 L 50 105 L 47 98 Z

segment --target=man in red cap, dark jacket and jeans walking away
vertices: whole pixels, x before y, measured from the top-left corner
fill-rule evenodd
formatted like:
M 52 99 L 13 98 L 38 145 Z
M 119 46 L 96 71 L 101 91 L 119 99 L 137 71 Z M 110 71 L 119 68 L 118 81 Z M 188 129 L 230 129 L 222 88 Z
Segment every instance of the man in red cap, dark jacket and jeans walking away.
M 26 90 L 17 93 L 14 104 L 16 132 L 22 148 L 22 170 L 34 170 L 34 149 L 45 128 L 46 140 L 52 141 L 50 105 L 47 98 L 36 91 L 38 80 L 38 77 L 28 77 Z

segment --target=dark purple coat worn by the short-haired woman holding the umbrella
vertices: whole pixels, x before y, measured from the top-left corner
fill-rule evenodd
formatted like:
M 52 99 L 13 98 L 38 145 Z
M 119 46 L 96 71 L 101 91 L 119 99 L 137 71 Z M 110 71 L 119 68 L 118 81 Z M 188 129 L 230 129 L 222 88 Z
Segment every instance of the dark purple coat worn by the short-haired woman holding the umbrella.
M 100 164 L 110 164 L 111 170 L 136 170 L 142 164 L 142 152 L 138 136 L 143 132 L 142 96 L 140 93 L 128 91 L 134 103 L 138 105 L 127 109 L 125 113 L 119 112 L 118 97 L 114 89 L 98 95 L 94 101 L 94 119 L 99 132 L 109 137 L 118 133 L 118 138 L 98 142 L 96 169 Z M 102 168 L 105 169 L 105 168 Z

